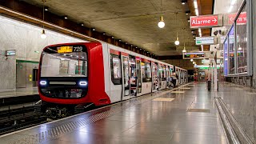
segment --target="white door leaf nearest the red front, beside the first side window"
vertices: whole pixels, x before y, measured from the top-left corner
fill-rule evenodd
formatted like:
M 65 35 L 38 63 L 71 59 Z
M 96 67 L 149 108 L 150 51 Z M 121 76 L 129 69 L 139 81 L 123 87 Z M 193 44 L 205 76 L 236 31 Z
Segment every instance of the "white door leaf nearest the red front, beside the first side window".
M 129 57 L 122 55 L 122 100 L 130 98 Z

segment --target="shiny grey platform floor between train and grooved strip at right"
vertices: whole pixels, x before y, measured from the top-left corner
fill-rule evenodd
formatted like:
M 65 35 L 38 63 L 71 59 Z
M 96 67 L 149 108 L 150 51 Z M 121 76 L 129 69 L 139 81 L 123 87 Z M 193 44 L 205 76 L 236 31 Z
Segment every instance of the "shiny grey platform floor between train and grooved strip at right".
M 5 134 L 0 143 L 228 142 L 213 94 L 194 82 Z

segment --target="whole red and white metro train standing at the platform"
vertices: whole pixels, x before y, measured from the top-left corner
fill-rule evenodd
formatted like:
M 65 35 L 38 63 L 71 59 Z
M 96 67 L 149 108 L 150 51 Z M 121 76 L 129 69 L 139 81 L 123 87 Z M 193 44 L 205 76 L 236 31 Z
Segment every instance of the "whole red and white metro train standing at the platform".
M 187 82 L 187 70 L 101 42 L 65 43 L 42 50 L 38 70 L 41 110 L 66 115 Z

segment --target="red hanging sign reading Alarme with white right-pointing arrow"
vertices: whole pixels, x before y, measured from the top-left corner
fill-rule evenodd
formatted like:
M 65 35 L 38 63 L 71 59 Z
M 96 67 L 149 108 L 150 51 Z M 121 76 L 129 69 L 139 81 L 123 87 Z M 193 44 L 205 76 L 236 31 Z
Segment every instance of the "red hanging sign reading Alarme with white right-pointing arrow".
M 215 27 L 220 26 L 220 24 L 222 25 L 222 22 L 220 21 L 222 20 L 219 19 L 218 14 L 190 17 L 190 27 Z

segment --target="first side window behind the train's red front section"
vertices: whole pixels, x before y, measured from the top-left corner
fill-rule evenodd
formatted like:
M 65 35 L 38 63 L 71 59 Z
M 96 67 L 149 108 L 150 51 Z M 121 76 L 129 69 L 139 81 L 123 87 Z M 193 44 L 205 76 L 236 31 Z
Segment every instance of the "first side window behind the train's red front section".
M 122 85 L 121 61 L 118 55 L 110 55 L 111 81 L 114 85 Z

